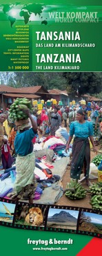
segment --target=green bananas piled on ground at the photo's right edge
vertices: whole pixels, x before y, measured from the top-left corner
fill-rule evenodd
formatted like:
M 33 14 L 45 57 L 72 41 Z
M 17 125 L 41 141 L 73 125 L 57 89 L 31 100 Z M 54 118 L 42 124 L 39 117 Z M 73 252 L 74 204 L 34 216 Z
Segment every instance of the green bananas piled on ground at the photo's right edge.
M 92 198 L 90 200 L 92 209 L 102 210 L 102 184 L 92 183 L 90 186 L 90 193 L 92 194 Z

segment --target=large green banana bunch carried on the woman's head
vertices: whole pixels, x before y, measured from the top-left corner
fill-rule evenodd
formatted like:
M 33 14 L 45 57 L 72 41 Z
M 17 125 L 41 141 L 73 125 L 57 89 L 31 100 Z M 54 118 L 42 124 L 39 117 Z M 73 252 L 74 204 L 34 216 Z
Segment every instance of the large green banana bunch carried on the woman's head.
M 30 109 L 32 111 L 32 103 L 27 98 L 17 98 L 10 106 L 10 115 L 13 121 L 26 120 L 28 116 L 23 113 L 22 109 Z

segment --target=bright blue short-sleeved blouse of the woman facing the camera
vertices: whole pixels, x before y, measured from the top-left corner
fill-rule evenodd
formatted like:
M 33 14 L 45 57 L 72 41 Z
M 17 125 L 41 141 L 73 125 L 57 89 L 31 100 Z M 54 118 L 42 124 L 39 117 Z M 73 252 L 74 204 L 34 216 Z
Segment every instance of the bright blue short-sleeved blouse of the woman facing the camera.
M 85 120 L 83 124 L 78 121 L 74 121 L 70 124 L 70 136 L 75 136 L 79 138 L 88 138 L 93 136 L 93 126 L 92 122 Z

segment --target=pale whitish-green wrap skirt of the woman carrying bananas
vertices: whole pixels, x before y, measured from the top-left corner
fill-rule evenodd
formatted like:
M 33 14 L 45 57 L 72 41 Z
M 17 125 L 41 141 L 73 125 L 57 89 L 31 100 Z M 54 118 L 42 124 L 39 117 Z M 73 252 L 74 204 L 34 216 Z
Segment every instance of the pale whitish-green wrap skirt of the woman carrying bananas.
M 18 156 L 16 159 L 16 181 L 14 183 L 14 192 L 19 193 L 21 198 L 26 199 L 34 194 L 36 181 L 34 178 L 35 156 L 34 152 L 28 156 Z M 28 189 L 29 188 L 29 189 Z

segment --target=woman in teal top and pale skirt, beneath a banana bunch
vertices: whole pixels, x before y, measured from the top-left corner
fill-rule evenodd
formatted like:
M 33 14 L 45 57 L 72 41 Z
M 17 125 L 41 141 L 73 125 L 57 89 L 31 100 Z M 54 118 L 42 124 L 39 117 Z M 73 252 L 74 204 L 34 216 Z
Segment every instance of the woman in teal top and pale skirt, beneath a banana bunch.
M 16 181 L 14 183 L 14 193 L 9 194 L 11 199 L 24 199 L 33 202 L 34 191 L 36 189 L 36 179 L 34 177 L 35 156 L 33 152 L 32 138 L 37 134 L 37 123 L 30 114 L 30 110 L 23 110 L 30 118 L 32 128 L 30 128 L 29 120 L 24 125 L 15 125 L 18 128 L 17 135 L 14 140 L 14 149 L 17 154 L 16 159 Z

